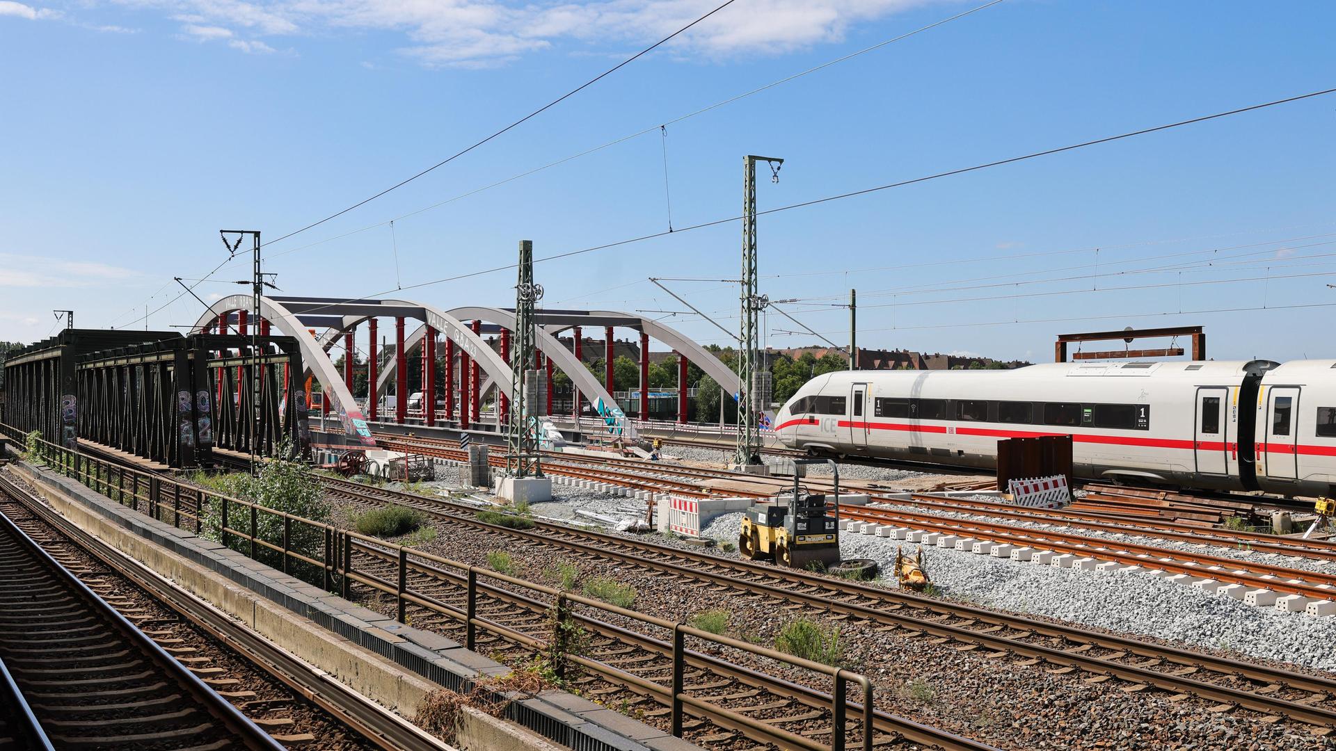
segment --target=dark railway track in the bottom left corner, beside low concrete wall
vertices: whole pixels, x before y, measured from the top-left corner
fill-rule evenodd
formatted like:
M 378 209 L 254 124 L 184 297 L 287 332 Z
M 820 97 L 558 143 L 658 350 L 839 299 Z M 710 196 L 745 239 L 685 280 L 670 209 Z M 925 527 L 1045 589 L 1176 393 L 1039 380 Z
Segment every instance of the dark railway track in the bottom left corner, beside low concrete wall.
M 3 476 L 0 659 L 56 748 L 444 748 Z

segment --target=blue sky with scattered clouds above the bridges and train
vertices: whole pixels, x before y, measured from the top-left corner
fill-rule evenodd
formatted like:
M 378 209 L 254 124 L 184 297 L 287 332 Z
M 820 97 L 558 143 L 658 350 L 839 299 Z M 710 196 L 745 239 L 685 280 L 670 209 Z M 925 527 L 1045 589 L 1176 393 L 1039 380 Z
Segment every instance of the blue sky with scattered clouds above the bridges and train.
M 166 305 L 154 329 L 192 323 L 200 306 L 170 303 L 171 278 L 223 261 L 218 229 L 278 238 L 326 216 L 713 4 L 0 0 L 0 338 L 47 335 L 56 307 L 80 326 L 143 327 L 146 303 Z M 417 212 L 978 4 L 736 0 L 473 154 L 269 246 L 267 269 L 287 294 L 369 295 L 508 263 L 520 239 L 541 258 L 659 233 L 665 147 L 684 227 L 739 214 L 744 154 L 786 159 L 778 184 L 760 176 L 767 208 L 1336 87 L 1328 3 L 1005 0 L 665 139 Z M 763 216 L 763 291 L 803 298 L 786 309 L 844 343 L 847 311 L 828 305 L 856 287 L 868 347 L 1042 361 L 1058 333 L 1202 323 L 1217 358 L 1336 357 L 1336 307 L 1315 307 L 1336 303 L 1333 126 L 1327 96 Z M 739 246 L 731 222 L 536 275 L 550 307 L 683 310 L 645 278 L 733 278 Z M 215 279 L 247 274 L 238 261 Z M 509 305 L 513 285 L 506 270 L 402 295 Z M 673 287 L 736 323 L 733 287 Z M 695 317 L 669 321 L 724 343 Z M 768 343 L 814 342 L 794 327 L 771 315 Z

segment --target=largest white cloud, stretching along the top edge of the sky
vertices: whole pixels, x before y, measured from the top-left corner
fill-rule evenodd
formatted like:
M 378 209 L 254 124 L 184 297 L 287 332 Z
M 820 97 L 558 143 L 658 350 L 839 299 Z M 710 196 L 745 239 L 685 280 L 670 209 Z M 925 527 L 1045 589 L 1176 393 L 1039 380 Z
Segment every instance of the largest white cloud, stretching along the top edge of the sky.
M 490 67 L 566 43 L 572 53 L 589 47 L 633 48 L 687 25 L 717 0 L 116 0 L 159 9 L 187 24 L 195 39 L 290 36 L 330 29 L 389 31 L 405 36 L 401 52 L 429 67 Z M 840 41 L 858 23 L 947 0 L 747 0 L 720 11 L 669 43 L 679 57 L 774 55 Z M 0 0 L 0 7 L 7 0 Z M 8 3 L 16 5 L 17 3 Z M 212 29 L 207 37 L 200 29 Z M 227 32 L 226 35 L 220 32 Z M 242 52 L 273 52 L 248 41 Z M 580 49 L 585 47 L 585 49 Z

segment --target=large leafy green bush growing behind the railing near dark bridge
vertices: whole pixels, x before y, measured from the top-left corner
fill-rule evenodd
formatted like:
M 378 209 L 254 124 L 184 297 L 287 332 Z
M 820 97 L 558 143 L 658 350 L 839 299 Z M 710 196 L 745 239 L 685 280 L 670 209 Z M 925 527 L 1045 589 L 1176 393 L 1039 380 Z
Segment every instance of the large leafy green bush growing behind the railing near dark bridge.
M 279 452 L 286 456 L 286 452 Z M 258 477 L 248 474 L 218 474 L 203 476 L 195 473 L 195 481 L 214 492 L 231 496 L 234 498 L 258 504 L 267 509 L 290 513 L 310 521 L 327 522 L 330 506 L 325 502 L 319 482 L 313 476 L 309 466 L 302 462 L 289 460 L 266 461 Z M 223 504 L 212 498 L 204 509 L 203 533 L 210 540 L 222 541 Z M 231 506 L 227 525 L 238 532 L 250 532 L 250 509 L 246 506 Z M 255 536 L 274 545 L 283 544 L 283 517 L 258 512 L 255 516 Z M 227 547 L 240 553 L 250 552 L 250 541 L 228 535 Z M 289 548 L 307 557 L 322 559 L 325 556 L 325 533 L 307 524 L 294 522 Z M 257 547 L 255 560 L 274 568 L 283 567 L 283 553 Z M 289 569 L 298 576 L 306 576 L 309 581 L 317 581 L 319 569 L 301 561 L 290 561 Z

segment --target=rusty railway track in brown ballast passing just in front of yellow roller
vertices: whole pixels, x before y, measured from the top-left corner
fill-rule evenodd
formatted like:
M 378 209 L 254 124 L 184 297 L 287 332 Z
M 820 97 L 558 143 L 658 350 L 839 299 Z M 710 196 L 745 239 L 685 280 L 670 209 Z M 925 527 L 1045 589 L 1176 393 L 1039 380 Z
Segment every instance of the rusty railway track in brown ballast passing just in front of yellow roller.
M 1324 676 L 557 524 L 536 521 L 532 531 L 509 529 L 476 518 L 474 506 L 441 498 L 335 480 L 327 488 L 335 498 L 407 505 L 526 544 L 657 571 L 677 577 L 679 585 L 727 587 L 739 596 L 763 597 L 771 607 L 850 619 L 863 628 L 902 629 L 1053 672 L 1085 671 L 1110 690 L 1161 690 L 1209 703 L 1212 711 L 1245 710 L 1259 712 L 1260 720 L 1299 720 L 1323 732 L 1336 727 L 1336 710 L 1325 706 L 1336 695 L 1336 680 Z

